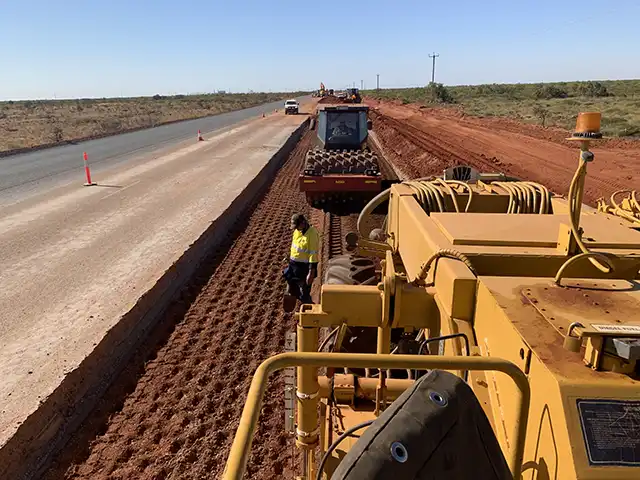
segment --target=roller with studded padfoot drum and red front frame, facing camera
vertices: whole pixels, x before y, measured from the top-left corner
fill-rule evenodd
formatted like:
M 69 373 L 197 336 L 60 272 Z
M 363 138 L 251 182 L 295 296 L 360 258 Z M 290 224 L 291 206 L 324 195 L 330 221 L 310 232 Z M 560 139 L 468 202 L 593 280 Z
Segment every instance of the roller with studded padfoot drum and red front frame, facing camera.
M 365 105 L 320 105 L 315 146 L 305 157 L 300 191 L 315 208 L 357 205 L 380 193 L 377 154 L 368 147 L 372 128 Z

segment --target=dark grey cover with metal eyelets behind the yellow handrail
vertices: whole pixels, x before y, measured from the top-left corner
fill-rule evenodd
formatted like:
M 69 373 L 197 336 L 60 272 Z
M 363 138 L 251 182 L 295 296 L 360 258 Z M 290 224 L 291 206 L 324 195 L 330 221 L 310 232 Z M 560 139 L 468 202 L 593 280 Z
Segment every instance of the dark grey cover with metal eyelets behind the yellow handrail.
M 471 388 L 459 377 L 436 370 L 415 382 L 380 415 L 331 477 L 332 480 L 509 478 L 512 478 L 509 467 Z

